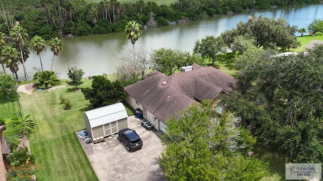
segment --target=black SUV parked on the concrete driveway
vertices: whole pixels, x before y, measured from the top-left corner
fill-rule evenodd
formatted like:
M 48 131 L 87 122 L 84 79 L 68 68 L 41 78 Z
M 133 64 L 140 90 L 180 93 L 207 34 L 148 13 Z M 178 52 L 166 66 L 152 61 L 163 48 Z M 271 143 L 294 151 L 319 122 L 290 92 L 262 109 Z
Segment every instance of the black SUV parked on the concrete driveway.
M 133 151 L 142 147 L 142 141 L 135 130 L 126 128 L 119 131 L 118 140 L 127 145 L 128 151 Z

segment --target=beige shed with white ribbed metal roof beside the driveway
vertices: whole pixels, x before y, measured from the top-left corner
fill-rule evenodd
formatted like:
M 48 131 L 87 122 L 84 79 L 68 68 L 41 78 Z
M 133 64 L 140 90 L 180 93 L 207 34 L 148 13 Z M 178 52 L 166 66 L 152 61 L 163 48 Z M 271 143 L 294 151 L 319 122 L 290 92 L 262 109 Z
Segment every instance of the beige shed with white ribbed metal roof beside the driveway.
M 127 111 L 122 103 L 93 109 L 84 112 L 86 131 L 95 138 L 118 133 L 119 130 L 128 128 Z

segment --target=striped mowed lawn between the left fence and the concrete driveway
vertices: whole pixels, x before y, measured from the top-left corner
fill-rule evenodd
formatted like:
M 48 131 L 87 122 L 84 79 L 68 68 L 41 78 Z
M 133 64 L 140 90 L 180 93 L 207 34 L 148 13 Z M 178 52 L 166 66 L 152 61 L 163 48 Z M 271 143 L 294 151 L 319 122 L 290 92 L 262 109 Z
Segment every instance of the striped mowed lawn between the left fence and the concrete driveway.
M 87 81 L 81 87 L 90 84 Z M 29 135 L 31 153 L 36 164 L 43 167 L 36 174 L 37 180 L 98 180 L 75 134 L 85 128 L 83 112 L 93 107 L 82 92 L 72 90 L 67 85 L 53 92 L 19 93 L 24 114 L 30 114 L 37 124 L 35 132 Z M 71 110 L 63 109 L 61 94 L 70 100 Z

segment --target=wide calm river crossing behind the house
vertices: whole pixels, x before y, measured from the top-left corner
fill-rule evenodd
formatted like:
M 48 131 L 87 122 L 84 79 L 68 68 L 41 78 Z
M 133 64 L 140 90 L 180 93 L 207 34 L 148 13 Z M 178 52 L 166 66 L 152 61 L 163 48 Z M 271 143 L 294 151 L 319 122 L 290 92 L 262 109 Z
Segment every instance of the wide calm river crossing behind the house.
M 142 31 L 141 38 L 135 48 L 143 46 L 149 50 L 163 47 L 192 52 L 196 40 L 207 35 L 219 36 L 223 31 L 231 29 L 240 21 L 246 22 L 249 16 L 263 15 L 265 17 L 282 17 L 289 24 L 306 28 L 314 19 L 323 18 L 323 5 L 308 5 L 302 7 L 274 8 L 270 10 L 249 11 L 233 15 L 209 17 L 203 20 L 176 24 L 167 27 L 150 28 Z M 109 74 L 115 72 L 115 67 L 121 63 L 118 54 L 124 47 L 131 48 L 130 41 L 124 33 L 91 35 L 85 37 L 61 38 L 63 51 L 55 56 L 53 70 L 60 78 L 68 78 L 68 67 L 77 66 L 85 72 L 84 76 Z M 46 41 L 48 44 L 48 41 Z M 52 52 L 41 53 L 45 70 L 50 69 Z M 29 78 L 40 68 L 39 57 L 31 52 L 26 61 Z M 11 73 L 7 69 L 8 73 Z M 20 79 L 24 79 L 23 67 L 18 71 Z

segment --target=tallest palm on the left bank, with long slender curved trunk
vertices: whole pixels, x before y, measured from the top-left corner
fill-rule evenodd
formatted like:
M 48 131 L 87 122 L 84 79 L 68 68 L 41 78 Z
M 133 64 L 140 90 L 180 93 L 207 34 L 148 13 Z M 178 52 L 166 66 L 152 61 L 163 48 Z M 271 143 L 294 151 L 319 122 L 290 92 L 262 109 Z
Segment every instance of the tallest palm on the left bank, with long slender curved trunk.
M 26 78 L 26 80 L 28 80 L 26 66 L 25 66 L 26 60 L 24 59 L 22 49 L 25 46 L 25 41 L 27 41 L 27 39 L 29 38 L 29 35 L 27 34 L 27 30 L 21 26 L 16 26 L 15 28 L 12 28 L 10 35 L 11 35 L 12 39 L 20 47 L 20 54 L 21 54 L 21 58 L 22 58 L 22 65 L 24 67 L 25 78 Z

